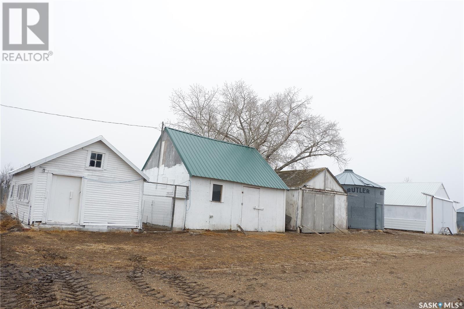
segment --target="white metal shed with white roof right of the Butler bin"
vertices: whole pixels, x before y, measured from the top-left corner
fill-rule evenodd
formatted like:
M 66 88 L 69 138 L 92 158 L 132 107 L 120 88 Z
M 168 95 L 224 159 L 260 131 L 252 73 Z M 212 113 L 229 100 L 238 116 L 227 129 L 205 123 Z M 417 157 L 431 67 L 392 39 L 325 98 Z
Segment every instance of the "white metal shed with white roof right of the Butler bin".
M 457 202 L 450 200 L 441 182 L 380 183 L 385 187 L 385 227 L 438 233 L 449 227 L 456 233 Z

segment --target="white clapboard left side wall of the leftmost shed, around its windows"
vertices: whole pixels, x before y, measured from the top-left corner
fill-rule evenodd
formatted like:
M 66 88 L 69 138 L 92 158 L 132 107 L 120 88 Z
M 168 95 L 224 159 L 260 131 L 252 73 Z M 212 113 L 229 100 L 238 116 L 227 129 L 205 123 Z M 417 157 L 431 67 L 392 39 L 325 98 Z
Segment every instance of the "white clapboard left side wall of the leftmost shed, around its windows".
M 31 168 L 29 170 L 26 170 L 25 172 L 19 173 L 19 174 L 14 174 L 13 175 L 13 180 L 11 185 L 14 185 L 14 193 L 13 197 L 10 198 L 11 196 L 11 188 L 10 192 L 8 192 L 8 200 L 6 202 L 6 212 L 12 214 L 13 216 L 16 216 L 18 214 L 19 219 L 21 222 L 26 223 L 28 222 L 29 219 L 29 210 L 30 210 L 30 201 L 32 198 L 32 182 L 34 180 L 34 169 Z M 29 201 L 19 201 L 17 198 L 17 193 L 18 193 L 18 187 L 19 185 L 22 184 L 31 184 L 31 188 L 29 191 Z

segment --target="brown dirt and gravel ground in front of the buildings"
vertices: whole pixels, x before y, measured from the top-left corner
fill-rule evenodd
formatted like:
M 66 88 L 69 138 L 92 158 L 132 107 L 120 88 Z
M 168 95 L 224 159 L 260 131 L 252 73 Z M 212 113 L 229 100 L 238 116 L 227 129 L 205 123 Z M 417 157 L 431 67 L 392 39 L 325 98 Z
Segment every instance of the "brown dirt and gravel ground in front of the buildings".
M 464 298 L 460 235 L 37 232 L 3 217 L 2 308 L 419 308 Z

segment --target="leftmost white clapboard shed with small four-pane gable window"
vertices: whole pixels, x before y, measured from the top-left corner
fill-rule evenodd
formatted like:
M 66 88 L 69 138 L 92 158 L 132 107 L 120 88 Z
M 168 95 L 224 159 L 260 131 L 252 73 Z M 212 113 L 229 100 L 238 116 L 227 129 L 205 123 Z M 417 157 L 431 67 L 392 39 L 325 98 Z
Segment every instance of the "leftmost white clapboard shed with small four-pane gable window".
M 148 177 L 103 136 L 10 172 L 6 212 L 25 224 L 140 228 Z

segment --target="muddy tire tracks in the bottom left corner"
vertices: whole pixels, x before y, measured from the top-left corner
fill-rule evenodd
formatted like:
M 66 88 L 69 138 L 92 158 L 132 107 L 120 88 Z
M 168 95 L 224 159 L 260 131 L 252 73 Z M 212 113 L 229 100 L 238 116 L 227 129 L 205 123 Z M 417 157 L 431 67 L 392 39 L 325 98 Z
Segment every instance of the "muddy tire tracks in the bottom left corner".
M 115 308 L 98 295 L 77 271 L 45 265 L 26 271 L 14 264 L 1 267 L 3 308 Z

